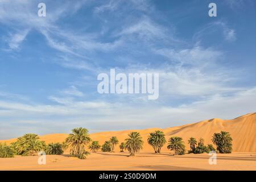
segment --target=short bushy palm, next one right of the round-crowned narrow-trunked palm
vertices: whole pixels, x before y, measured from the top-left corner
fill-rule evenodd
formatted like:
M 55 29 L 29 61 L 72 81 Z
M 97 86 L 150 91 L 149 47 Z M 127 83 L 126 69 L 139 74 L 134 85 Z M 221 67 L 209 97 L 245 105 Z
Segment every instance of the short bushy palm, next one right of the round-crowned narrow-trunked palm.
M 182 138 L 180 137 L 171 137 L 168 140 L 168 146 L 167 148 L 170 150 L 174 150 L 175 151 L 175 155 L 183 155 L 185 154 L 185 145 L 184 142 L 182 140 Z

